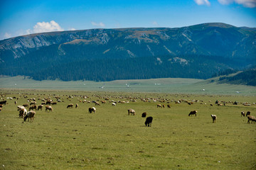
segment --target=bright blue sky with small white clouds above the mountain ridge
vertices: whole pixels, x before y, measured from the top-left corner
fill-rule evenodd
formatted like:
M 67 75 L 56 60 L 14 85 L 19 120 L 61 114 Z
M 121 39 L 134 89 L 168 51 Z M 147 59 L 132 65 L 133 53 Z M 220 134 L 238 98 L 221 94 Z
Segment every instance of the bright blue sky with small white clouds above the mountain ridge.
M 0 0 L 0 40 L 60 30 L 213 22 L 256 28 L 256 0 Z

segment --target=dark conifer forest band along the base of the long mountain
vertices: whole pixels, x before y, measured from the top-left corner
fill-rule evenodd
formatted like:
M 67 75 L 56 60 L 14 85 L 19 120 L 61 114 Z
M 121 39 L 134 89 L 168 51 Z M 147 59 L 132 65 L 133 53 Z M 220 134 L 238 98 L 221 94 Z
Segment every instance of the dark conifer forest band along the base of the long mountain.
M 48 53 L 47 53 L 48 52 Z M 25 75 L 31 79 L 60 79 L 63 81 L 91 80 L 112 81 L 116 79 L 193 78 L 208 79 L 235 62 L 218 61 L 218 57 L 204 55 L 136 57 L 124 59 L 85 59 L 65 57 L 56 59 L 54 52 L 46 60 L 44 55 L 22 57 L 0 64 L 1 74 Z M 57 55 L 57 54 L 56 54 Z M 59 55 L 58 55 L 59 57 Z M 31 60 L 33 58 L 33 60 Z M 73 59 L 73 60 L 72 60 Z

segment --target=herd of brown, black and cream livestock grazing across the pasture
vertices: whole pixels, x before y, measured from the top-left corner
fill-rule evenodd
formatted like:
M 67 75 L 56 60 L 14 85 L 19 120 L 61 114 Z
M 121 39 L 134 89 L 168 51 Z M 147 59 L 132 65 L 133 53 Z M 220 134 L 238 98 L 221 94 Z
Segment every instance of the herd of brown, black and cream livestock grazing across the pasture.
M 6 105 L 7 101 L 5 100 L 4 98 L 5 96 L 2 95 L 1 96 L 1 101 L 0 101 L 0 112 L 2 111 L 2 108 L 5 107 L 4 105 Z M 17 106 L 18 108 L 18 116 L 19 118 L 23 118 L 23 121 L 26 121 L 28 119 L 33 121 L 33 118 L 35 117 L 36 115 L 36 111 L 39 111 L 39 110 L 43 110 L 43 107 L 45 107 L 45 111 L 53 111 L 53 106 L 54 105 L 57 105 L 58 102 L 63 102 L 63 98 L 60 98 L 59 96 L 53 96 L 55 98 L 56 101 L 53 101 L 53 99 L 50 98 L 50 96 L 48 96 L 47 98 L 38 98 L 38 101 L 41 101 L 41 104 L 39 105 L 36 105 L 36 98 L 28 98 L 27 96 L 21 96 L 20 97 L 23 97 L 23 98 L 27 98 L 27 101 L 28 103 L 24 103 L 22 106 Z M 67 99 L 70 99 L 70 98 L 73 98 L 74 96 L 68 96 Z M 76 96 L 78 97 L 78 96 Z M 97 101 L 87 101 L 86 98 L 89 98 L 88 96 L 79 96 L 80 98 L 82 98 L 82 100 L 79 100 L 79 102 L 82 102 L 82 103 L 94 103 L 95 106 L 100 106 L 100 102 L 102 104 L 104 103 L 107 103 L 107 101 L 109 103 L 112 103 L 112 106 L 116 106 L 117 103 L 129 103 L 129 101 L 131 102 L 137 102 L 138 99 L 140 99 L 141 101 L 144 101 L 144 102 L 159 102 L 159 103 L 167 103 L 167 107 L 168 108 L 171 108 L 170 106 L 170 102 L 174 102 L 174 103 L 181 103 L 181 102 L 186 102 L 188 103 L 188 105 L 191 105 L 193 104 L 194 102 L 198 102 L 197 100 L 193 100 L 193 101 L 187 101 L 187 100 L 169 100 L 169 99 L 160 99 L 160 98 L 127 98 L 129 99 L 129 101 L 114 101 L 114 100 L 110 100 L 110 97 L 102 97 L 102 96 L 97 96 L 99 99 Z M 100 98 L 103 100 L 100 101 Z M 122 98 L 122 97 L 119 97 L 119 98 Z M 7 97 L 6 99 L 9 99 L 9 100 L 13 100 L 13 99 L 16 99 L 18 100 L 18 98 L 16 97 L 13 97 L 13 98 L 10 98 L 10 97 Z M 17 104 L 17 101 L 14 101 L 15 104 Z M 225 106 L 227 102 L 225 101 L 215 101 L 215 104 L 218 105 L 218 106 Z M 235 101 L 235 102 L 228 102 L 228 103 L 233 103 L 233 105 L 238 105 L 238 102 Z M 252 103 L 255 105 L 255 103 Z M 250 103 L 242 103 L 242 105 L 244 106 L 250 106 Z M 67 108 L 73 108 L 74 104 L 73 103 L 70 103 L 68 104 Z M 213 106 L 213 104 L 210 104 L 210 106 Z M 166 106 L 164 104 L 156 104 L 156 107 L 157 108 L 165 108 Z M 75 104 L 75 108 L 78 108 L 78 103 Z M 135 115 L 135 111 L 134 109 L 132 108 L 129 108 L 128 110 L 128 115 Z M 95 107 L 92 107 L 92 108 L 88 108 L 88 113 L 95 113 L 96 112 L 96 108 Z M 193 116 L 195 115 L 196 116 L 196 113 L 197 111 L 191 111 L 188 116 Z M 213 119 L 213 123 L 216 122 L 216 119 L 217 119 L 217 115 L 210 115 L 211 118 Z M 247 113 L 245 113 L 244 111 L 241 112 L 241 116 L 246 116 L 247 117 L 247 123 L 256 123 L 256 118 L 255 116 L 253 115 L 250 115 L 250 111 L 247 111 Z M 142 118 L 145 118 L 146 117 L 146 112 L 142 113 Z M 146 126 L 151 126 L 151 123 L 152 123 L 152 120 L 153 118 L 151 116 L 147 117 L 146 118 L 146 121 L 145 121 L 145 125 Z

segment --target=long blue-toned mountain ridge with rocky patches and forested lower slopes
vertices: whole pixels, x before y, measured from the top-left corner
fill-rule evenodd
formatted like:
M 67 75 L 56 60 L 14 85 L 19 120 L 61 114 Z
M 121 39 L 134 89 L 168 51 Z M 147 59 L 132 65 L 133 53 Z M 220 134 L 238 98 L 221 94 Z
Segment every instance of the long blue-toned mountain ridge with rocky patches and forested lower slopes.
M 255 61 L 256 29 L 225 23 L 73 30 L 0 41 L 1 74 L 37 80 L 208 79 Z

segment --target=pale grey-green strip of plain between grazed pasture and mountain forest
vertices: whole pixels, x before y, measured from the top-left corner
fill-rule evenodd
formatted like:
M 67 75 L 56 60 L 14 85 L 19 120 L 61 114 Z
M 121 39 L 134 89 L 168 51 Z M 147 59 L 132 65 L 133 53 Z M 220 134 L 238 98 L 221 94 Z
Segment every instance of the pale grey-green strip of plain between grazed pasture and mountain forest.
M 0 89 L 48 89 L 79 91 L 155 92 L 169 94 L 228 94 L 256 96 L 255 86 L 211 83 L 201 79 L 142 79 L 117 81 L 35 81 L 24 77 L 0 77 Z

